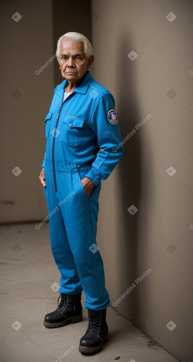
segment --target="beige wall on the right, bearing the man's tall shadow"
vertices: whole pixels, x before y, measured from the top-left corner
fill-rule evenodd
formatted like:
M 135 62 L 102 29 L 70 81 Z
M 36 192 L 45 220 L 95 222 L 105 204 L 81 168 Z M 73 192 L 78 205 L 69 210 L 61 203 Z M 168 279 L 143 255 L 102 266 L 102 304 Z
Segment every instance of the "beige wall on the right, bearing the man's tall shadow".
M 173 22 L 166 18 L 171 11 Z M 112 303 L 123 295 L 114 303 L 117 311 L 190 362 L 193 1 L 93 0 L 92 13 L 92 74 L 115 97 L 122 139 L 136 131 L 100 195 L 98 245 L 107 289 Z M 127 57 L 132 50 L 133 61 Z

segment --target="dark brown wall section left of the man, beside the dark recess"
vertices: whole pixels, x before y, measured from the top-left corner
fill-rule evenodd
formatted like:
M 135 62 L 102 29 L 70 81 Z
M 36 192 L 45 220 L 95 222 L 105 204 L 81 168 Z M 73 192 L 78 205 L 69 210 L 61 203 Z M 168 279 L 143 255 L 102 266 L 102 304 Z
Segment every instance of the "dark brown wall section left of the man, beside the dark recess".
M 22 16 L 18 22 L 12 19 L 15 12 Z M 53 62 L 39 75 L 35 72 L 55 52 L 52 4 L 8 0 L 0 3 L 0 14 L 0 220 L 42 220 L 47 207 L 38 177 L 45 152 L 44 119 L 53 96 Z M 12 173 L 16 166 L 19 175 Z

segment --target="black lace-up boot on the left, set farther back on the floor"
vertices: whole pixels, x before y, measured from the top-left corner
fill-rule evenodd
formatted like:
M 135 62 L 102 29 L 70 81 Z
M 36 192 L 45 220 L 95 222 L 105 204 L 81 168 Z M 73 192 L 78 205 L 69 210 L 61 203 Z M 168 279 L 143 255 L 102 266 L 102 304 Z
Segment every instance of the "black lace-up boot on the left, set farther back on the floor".
M 43 325 L 47 328 L 62 327 L 67 323 L 77 323 L 82 320 L 81 294 L 60 294 L 60 297 L 58 308 L 44 317 Z

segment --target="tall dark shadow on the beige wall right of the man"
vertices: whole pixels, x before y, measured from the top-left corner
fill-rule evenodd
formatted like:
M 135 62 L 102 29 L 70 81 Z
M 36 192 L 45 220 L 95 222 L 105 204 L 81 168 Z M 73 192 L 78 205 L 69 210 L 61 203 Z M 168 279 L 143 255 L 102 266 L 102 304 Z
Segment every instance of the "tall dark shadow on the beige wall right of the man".
M 127 44 L 127 49 L 132 49 L 132 39 L 122 30 L 121 43 Z M 126 50 L 125 50 L 126 53 Z M 125 55 L 123 52 L 116 57 L 119 64 L 123 64 Z M 120 57 L 124 59 L 120 59 Z M 128 59 L 130 62 L 130 60 Z M 116 109 L 118 111 L 119 126 L 122 140 L 129 135 L 135 125 L 139 123 L 141 117 L 140 105 L 138 104 L 138 95 L 135 88 L 136 79 L 132 72 L 130 63 L 124 65 L 119 71 L 117 82 L 118 94 L 116 95 Z M 115 66 L 115 69 L 118 69 Z M 119 183 L 121 184 L 122 197 L 122 215 L 125 215 L 121 222 L 121 238 L 117 244 L 117 264 L 120 266 L 120 274 L 124 275 L 126 288 L 130 288 L 133 282 L 139 277 L 138 271 L 138 213 L 133 215 L 127 209 L 134 205 L 138 209 L 141 196 L 141 145 L 137 131 L 130 135 L 125 142 L 124 155 L 118 164 Z M 131 208 L 133 210 L 133 207 Z M 132 213 L 132 211 L 131 211 Z M 123 285 L 120 281 L 120 285 Z M 119 287 L 118 287 L 119 289 Z M 125 290 L 120 290 L 119 296 Z M 129 293 L 124 301 L 118 304 L 118 310 L 124 315 L 129 316 L 134 322 L 137 322 L 138 316 L 138 289 L 135 288 Z

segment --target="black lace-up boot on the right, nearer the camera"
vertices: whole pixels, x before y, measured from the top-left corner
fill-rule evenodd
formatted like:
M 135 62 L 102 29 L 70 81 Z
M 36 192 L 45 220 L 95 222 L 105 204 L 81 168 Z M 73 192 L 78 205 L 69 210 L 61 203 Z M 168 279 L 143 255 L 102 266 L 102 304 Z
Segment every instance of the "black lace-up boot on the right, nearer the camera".
M 99 311 L 88 309 L 88 321 L 88 328 L 80 339 L 78 350 L 82 353 L 97 353 L 103 343 L 107 342 L 106 309 Z

